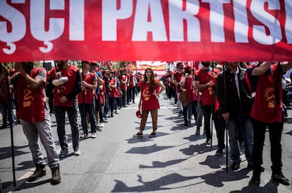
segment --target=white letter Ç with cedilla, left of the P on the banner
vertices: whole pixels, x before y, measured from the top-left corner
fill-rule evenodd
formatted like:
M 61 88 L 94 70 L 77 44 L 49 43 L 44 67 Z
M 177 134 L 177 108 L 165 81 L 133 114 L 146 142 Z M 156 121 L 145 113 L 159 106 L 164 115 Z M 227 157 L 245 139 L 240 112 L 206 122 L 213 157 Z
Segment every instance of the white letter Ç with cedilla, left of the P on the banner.
M 64 19 L 63 18 L 49 18 L 49 30 L 44 29 L 45 19 L 45 0 L 31 0 L 30 1 L 30 30 L 32 36 L 36 40 L 44 41 L 44 47 L 39 47 L 41 52 L 47 53 L 53 49 L 51 40 L 56 40 L 63 34 Z M 37 8 L 36 8 L 37 7 Z M 50 0 L 50 9 L 64 10 L 65 5 L 63 0 Z

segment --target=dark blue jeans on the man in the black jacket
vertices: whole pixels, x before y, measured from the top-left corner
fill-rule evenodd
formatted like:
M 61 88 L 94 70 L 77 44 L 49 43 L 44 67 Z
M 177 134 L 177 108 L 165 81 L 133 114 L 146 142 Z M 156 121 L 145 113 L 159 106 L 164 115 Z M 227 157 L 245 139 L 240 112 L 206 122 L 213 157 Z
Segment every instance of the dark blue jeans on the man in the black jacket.
M 227 128 L 229 129 L 229 144 L 233 162 L 241 162 L 238 146 L 238 134 L 241 132 L 245 145 L 245 158 L 248 163 L 253 165 L 253 124 L 250 117 L 248 115 L 229 115 Z

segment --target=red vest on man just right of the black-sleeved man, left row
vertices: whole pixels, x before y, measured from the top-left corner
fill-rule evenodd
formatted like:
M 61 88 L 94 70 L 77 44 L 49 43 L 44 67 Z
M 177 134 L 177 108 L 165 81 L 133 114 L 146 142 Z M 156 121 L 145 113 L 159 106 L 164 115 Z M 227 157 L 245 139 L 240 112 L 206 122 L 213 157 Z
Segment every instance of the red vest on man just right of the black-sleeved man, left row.
M 93 85 L 95 74 L 89 73 L 86 75 L 83 75 L 83 81 L 86 83 L 89 83 Z M 84 101 L 85 97 L 85 101 Z M 81 90 L 81 92 L 78 94 L 78 103 L 79 104 L 92 104 L 93 103 L 93 90 L 90 88 L 85 87 L 85 90 Z

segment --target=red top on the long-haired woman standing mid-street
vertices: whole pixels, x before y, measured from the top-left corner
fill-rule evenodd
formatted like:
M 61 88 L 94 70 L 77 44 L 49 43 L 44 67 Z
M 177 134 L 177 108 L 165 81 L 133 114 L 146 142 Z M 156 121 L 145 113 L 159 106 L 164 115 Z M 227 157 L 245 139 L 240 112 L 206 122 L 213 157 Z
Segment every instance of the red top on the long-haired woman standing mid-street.
M 158 83 L 156 80 L 155 83 Z M 153 92 L 150 90 L 150 83 L 145 83 L 144 81 L 141 81 L 139 83 L 139 87 L 141 90 L 141 99 L 142 99 L 142 110 L 154 110 L 159 109 L 159 100 L 155 95 L 153 95 Z M 155 87 L 155 92 L 159 91 L 159 86 Z

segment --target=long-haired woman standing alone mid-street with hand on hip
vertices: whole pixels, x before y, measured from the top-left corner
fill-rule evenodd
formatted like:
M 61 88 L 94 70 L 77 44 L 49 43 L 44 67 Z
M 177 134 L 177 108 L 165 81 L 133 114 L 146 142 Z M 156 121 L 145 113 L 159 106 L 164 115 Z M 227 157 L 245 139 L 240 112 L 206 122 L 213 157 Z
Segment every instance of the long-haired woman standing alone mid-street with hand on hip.
M 144 80 L 140 81 L 139 86 L 141 95 L 138 108 L 142 109 L 142 119 L 140 129 L 137 134 L 134 134 L 134 137 L 143 136 L 149 112 L 152 117 L 152 133 L 149 137 L 154 137 L 157 131 L 159 95 L 165 90 L 165 86 L 158 78 L 154 78 L 154 72 L 150 68 L 145 69 Z

